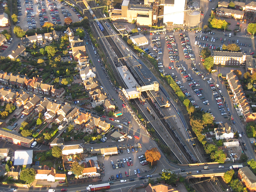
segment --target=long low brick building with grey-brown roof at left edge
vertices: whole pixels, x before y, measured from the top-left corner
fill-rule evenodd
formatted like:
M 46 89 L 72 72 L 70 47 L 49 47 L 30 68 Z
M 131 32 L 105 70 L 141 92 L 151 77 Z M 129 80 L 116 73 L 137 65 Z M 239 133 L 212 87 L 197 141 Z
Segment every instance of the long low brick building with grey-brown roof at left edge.
M 28 148 L 34 142 L 33 137 L 23 137 L 20 133 L 7 131 L 2 128 L 0 128 L 0 139 Z

